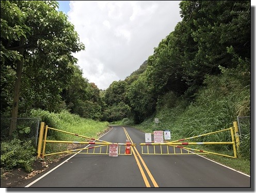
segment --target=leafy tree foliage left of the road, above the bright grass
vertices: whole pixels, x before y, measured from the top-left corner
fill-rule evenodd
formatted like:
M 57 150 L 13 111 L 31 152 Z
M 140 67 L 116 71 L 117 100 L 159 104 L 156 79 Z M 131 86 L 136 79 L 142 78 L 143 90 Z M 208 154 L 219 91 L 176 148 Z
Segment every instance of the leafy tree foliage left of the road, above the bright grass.
M 2 116 L 10 116 L 13 93 L 19 92 L 19 116 L 30 108 L 41 108 L 70 109 L 82 117 L 101 118 L 99 89 L 83 78 L 72 56 L 84 45 L 57 7 L 56 1 L 1 1 Z M 23 46 L 19 45 L 22 37 Z M 17 51 L 21 47 L 23 55 Z M 17 91 L 13 89 L 16 64 L 21 60 L 21 90 Z

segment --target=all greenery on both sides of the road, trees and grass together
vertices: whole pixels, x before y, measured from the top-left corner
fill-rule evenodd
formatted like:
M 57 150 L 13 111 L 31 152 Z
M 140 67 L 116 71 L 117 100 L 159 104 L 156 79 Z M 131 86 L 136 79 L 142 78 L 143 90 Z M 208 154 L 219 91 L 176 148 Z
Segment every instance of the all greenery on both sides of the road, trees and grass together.
M 153 55 L 104 91 L 76 65 L 72 54 L 86 46 L 57 7 L 57 1 L 1 1 L 1 117 L 40 117 L 49 127 L 90 137 L 108 122 L 145 132 L 169 129 L 173 140 L 227 129 L 237 116 L 250 117 L 250 1 L 181 1 L 182 21 Z M 248 128 L 238 159 L 204 156 L 250 174 Z M 1 140 L 1 168 L 30 171 L 36 149 L 15 138 L 15 121 L 9 129 L 11 140 Z M 49 137 L 77 141 L 55 131 Z M 195 139 L 210 141 L 230 141 L 230 134 Z M 46 151 L 67 148 L 50 145 Z M 232 146 L 205 148 L 232 154 Z

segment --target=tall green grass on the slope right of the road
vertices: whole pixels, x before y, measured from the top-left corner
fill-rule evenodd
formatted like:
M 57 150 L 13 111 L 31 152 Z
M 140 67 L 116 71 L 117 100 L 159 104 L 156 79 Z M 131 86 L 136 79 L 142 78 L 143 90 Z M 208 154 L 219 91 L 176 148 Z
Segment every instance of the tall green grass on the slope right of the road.
M 195 95 L 193 102 L 174 93 L 159 97 L 156 113 L 135 127 L 145 132 L 171 131 L 171 141 L 198 136 L 233 127 L 237 116 L 250 116 L 250 86 L 235 77 L 226 75 L 206 77 L 204 87 Z M 154 123 L 154 118 L 159 123 Z M 211 159 L 250 174 L 250 131 L 244 133 L 238 159 L 206 155 Z M 231 142 L 230 131 L 197 137 L 186 142 Z M 189 146 L 191 147 L 191 146 Z M 204 146 L 206 147 L 206 146 Z M 203 149 L 202 146 L 192 148 Z M 207 150 L 233 155 L 232 145 L 209 145 Z M 225 153 L 223 153 L 225 152 Z M 246 164 L 245 164 L 246 163 Z M 243 165 L 243 166 L 242 166 Z

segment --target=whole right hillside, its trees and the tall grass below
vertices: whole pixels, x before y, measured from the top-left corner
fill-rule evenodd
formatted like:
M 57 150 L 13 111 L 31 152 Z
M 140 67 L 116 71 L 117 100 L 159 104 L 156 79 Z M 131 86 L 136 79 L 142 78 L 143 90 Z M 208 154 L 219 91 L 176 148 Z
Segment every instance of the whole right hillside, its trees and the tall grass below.
M 250 116 L 250 1 L 182 1 L 180 8 L 182 21 L 174 31 L 105 95 L 130 107 L 119 111 L 119 119 L 128 115 L 122 124 L 145 132 L 168 129 L 173 140 L 229 128 L 237 116 Z M 241 137 L 239 155 L 249 159 L 250 129 Z M 228 134 L 204 138 L 229 140 Z

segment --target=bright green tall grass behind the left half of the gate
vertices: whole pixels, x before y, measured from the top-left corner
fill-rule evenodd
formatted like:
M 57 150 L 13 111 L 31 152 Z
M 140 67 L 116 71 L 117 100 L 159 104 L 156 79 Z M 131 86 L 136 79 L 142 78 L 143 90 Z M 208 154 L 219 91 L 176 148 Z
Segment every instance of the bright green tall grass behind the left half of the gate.
M 41 117 L 50 128 L 66 131 L 89 138 L 98 138 L 99 134 L 108 129 L 108 122 L 100 122 L 92 119 L 85 119 L 79 115 L 71 114 L 68 111 L 60 113 L 50 113 L 43 110 L 31 110 L 31 115 Z M 47 140 L 53 141 L 71 141 L 71 142 L 88 142 L 85 137 L 75 136 L 68 133 L 48 129 Z M 71 149 L 71 144 L 46 143 L 45 154 L 61 152 Z M 56 159 L 57 156 L 51 155 L 50 160 Z

